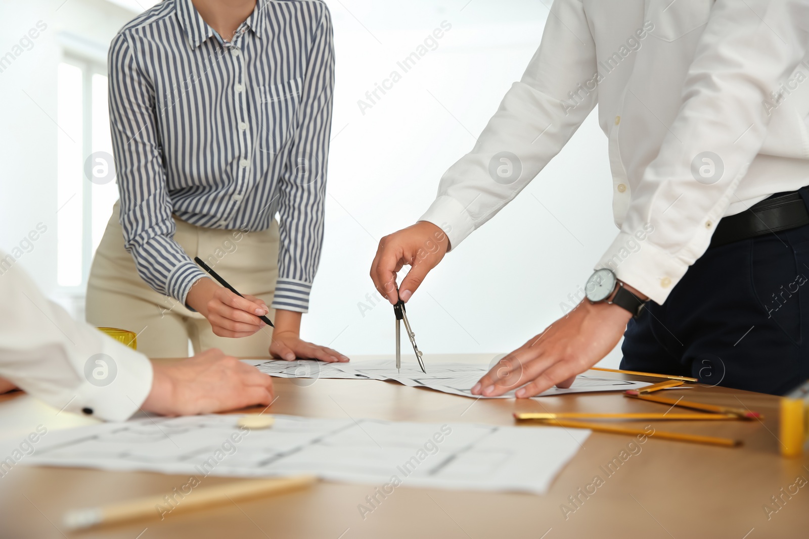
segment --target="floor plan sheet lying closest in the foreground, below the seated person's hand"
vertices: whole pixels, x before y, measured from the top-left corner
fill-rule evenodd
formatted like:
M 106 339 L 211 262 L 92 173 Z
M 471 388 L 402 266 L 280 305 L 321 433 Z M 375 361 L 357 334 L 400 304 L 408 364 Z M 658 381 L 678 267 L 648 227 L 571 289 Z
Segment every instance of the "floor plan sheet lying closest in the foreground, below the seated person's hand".
M 272 428 L 251 431 L 238 427 L 238 419 L 147 417 L 53 431 L 23 462 L 200 479 L 316 474 L 329 481 L 393 485 L 390 489 L 404 485 L 544 494 L 590 435 L 560 427 L 290 415 L 276 415 Z

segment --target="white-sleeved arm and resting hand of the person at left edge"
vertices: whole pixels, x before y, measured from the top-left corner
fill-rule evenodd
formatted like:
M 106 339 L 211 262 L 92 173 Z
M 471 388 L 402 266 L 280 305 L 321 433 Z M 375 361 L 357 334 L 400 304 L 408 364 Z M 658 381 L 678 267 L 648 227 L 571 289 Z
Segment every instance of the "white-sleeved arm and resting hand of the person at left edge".
M 218 350 L 153 364 L 70 318 L 18 265 L 3 267 L 0 298 L 0 393 L 19 388 L 57 409 L 107 421 L 137 411 L 194 415 L 273 402 L 269 376 Z

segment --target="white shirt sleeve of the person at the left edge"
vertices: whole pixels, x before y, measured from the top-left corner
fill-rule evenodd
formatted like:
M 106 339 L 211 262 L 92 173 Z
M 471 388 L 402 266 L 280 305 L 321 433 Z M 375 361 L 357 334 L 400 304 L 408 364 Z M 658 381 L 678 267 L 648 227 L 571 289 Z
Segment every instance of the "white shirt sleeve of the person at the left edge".
M 138 411 L 151 390 L 146 356 L 70 318 L 19 266 L 0 272 L 0 298 L 0 377 L 59 410 L 108 421 Z

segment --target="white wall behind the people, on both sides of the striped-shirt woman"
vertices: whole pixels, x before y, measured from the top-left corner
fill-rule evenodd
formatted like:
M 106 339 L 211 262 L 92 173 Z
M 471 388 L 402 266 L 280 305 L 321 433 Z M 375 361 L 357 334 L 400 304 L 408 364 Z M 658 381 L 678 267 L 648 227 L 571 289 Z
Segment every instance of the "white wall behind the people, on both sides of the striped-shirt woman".
M 36 222 L 53 221 L 56 209 L 56 127 L 22 90 L 53 116 L 57 28 L 108 43 L 133 16 L 100 0 L 70 0 L 52 11 L 61 1 L 0 6 L 0 53 L 36 20 L 49 23 L 35 48 L 0 74 L 6 103 L 0 131 L 4 249 Z M 429 206 L 443 172 L 472 148 L 536 50 L 548 10 L 532 0 L 327 3 L 337 48 L 334 138 L 324 253 L 303 334 L 349 355 L 388 354 L 391 307 L 378 304 L 364 314 L 358 307 L 371 306 L 368 272 L 377 242 L 413 223 Z M 452 28 L 438 48 L 363 114 L 358 99 L 444 20 Z M 560 302 L 587 279 L 616 234 L 606 148 L 591 116 L 523 194 L 434 270 L 408 305 L 428 358 L 509 352 L 559 317 Z M 49 291 L 55 239 L 45 234 L 20 260 Z M 616 364 L 616 352 L 608 364 Z

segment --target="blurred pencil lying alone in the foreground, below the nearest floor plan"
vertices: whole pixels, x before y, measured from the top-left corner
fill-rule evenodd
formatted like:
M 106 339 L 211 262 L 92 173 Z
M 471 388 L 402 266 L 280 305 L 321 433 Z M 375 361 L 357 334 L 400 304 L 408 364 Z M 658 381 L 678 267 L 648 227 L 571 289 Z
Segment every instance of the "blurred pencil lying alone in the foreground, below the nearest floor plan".
M 210 486 L 189 492 L 173 507 L 172 512 L 189 511 L 219 503 L 231 503 L 231 501 L 235 502 L 239 499 L 279 494 L 309 486 L 316 481 L 317 478 L 314 475 L 296 475 L 289 478 L 256 479 Z M 63 522 L 66 528 L 74 530 L 91 528 L 100 524 L 116 524 L 127 520 L 154 517 L 159 516 L 159 512 L 155 507 L 162 506 L 165 503 L 165 495 L 146 496 L 103 507 L 70 511 L 64 516 Z

